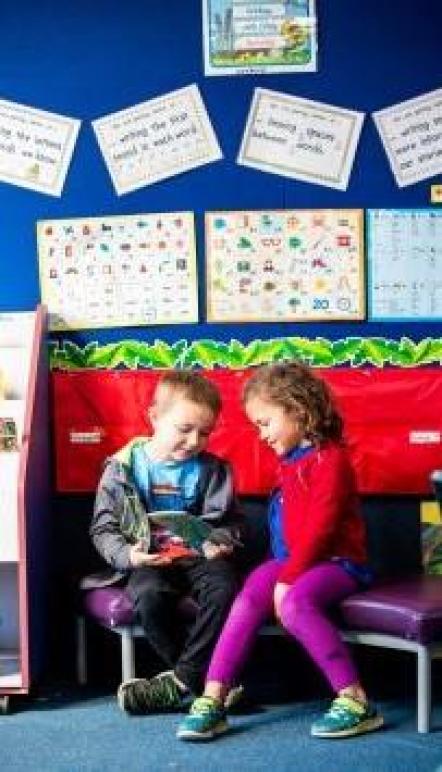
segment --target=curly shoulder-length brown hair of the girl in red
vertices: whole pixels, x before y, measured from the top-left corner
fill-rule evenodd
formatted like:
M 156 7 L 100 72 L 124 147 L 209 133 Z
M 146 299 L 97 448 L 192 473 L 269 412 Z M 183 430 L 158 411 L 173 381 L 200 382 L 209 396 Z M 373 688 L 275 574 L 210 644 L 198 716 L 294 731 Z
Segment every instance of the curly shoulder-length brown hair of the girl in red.
M 325 440 L 342 440 L 343 421 L 331 391 L 307 365 L 285 362 L 260 367 L 244 386 L 243 404 L 253 397 L 294 414 L 305 439 L 316 445 Z

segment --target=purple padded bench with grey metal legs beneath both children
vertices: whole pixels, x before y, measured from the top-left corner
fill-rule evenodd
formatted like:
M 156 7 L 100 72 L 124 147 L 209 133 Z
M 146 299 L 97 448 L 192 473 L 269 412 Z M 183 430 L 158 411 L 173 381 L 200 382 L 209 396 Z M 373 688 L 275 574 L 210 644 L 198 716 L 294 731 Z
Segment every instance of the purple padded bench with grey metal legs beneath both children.
M 194 603 L 185 599 L 182 612 L 192 614 Z M 134 620 L 124 589 L 104 587 L 83 593 L 88 617 L 122 637 L 122 678 L 135 675 L 134 639 L 144 635 Z M 351 643 L 379 646 L 417 655 L 417 729 L 428 732 L 431 723 L 431 663 L 442 657 L 442 576 L 418 575 L 385 582 L 347 598 L 340 607 L 341 629 Z M 281 632 L 277 625 L 264 632 Z M 85 683 L 86 639 L 84 615 L 78 619 L 78 677 Z

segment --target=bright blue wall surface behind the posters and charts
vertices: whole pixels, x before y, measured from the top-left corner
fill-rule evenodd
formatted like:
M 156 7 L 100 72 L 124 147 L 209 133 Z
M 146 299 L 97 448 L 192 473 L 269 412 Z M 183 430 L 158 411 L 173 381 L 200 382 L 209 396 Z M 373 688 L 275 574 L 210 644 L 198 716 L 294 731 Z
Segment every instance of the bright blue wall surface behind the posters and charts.
M 0 98 L 80 118 L 61 198 L 0 183 L 0 311 L 39 301 L 39 219 L 194 210 L 204 319 L 203 213 L 210 209 L 427 206 L 430 182 L 399 189 L 367 116 L 346 192 L 236 165 L 255 86 L 373 112 L 441 85 L 440 0 L 318 0 L 319 71 L 305 75 L 203 76 L 200 0 L 22 0 L 2 8 Z M 224 159 L 118 198 L 90 121 L 198 83 Z M 440 181 L 440 180 L 438 180 Z M 433 180 L 434 182 L 434 180 Z M 73 333 L 80 345 L 137 337 L 317 335 L 438 336 L 440 325 L 249 324 L 139 327 Z M 61 336 L 66 338 L 66 335 Z

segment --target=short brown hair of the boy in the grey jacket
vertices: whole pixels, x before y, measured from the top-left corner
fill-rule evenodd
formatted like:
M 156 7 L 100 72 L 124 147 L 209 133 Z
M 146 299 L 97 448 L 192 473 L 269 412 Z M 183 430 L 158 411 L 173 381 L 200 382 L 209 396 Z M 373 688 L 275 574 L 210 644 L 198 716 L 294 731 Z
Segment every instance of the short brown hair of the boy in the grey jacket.
M 194 370 L 170 370 L 158 381 L 153 396 L 153 405 L 167 408 L 175 396 L 204 405 L 218 416 L 221 410 L 221 397 L 216 386 Z

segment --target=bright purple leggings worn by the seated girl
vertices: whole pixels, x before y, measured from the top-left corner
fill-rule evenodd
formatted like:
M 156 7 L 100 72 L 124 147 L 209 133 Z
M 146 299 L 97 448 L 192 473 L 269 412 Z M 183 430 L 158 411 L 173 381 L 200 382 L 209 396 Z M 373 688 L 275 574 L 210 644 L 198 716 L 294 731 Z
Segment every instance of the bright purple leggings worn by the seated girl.
M 260 626 L 272 616 L 281 563 L 269 560 L 247 578 L 224 624 L 206 681 L 230 685 L 245 663 Z M 358 681 L 355 666 L 328 610 L 358 583 L 338 563 L 320 563 L 291 585 L 281 608 L 284 628 L 306 649 L 335 692 Z

